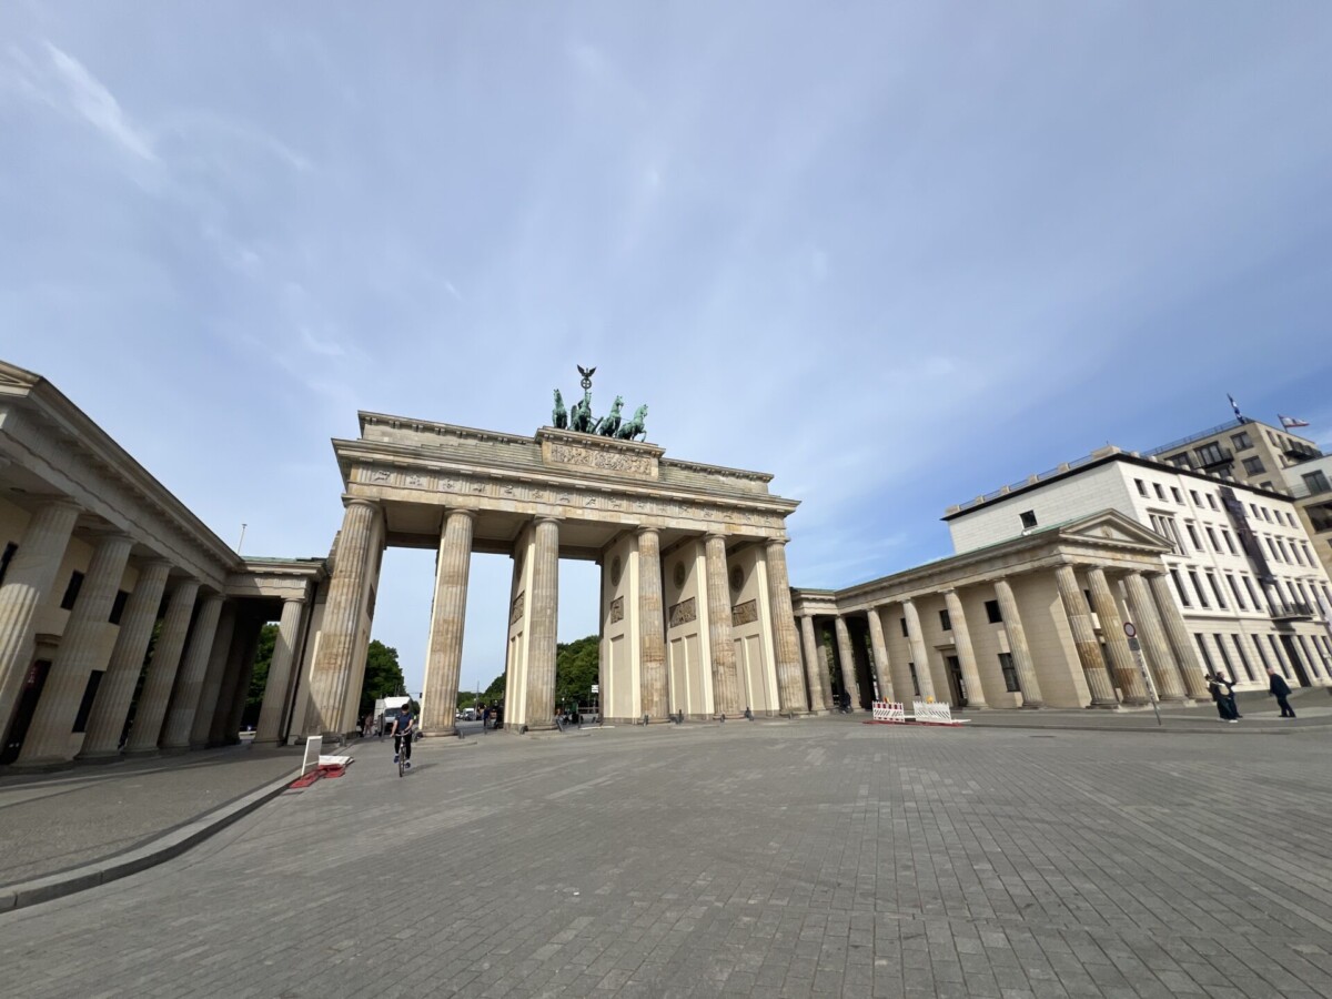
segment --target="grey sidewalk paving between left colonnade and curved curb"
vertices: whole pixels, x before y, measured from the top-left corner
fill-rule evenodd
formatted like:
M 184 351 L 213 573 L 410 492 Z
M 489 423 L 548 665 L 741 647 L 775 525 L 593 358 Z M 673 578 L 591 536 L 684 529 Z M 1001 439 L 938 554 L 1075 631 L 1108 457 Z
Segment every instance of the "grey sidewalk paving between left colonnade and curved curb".
M 0 777 L 0 884 L 132 850 L 301 766 L 301 750 L 232 746 Z

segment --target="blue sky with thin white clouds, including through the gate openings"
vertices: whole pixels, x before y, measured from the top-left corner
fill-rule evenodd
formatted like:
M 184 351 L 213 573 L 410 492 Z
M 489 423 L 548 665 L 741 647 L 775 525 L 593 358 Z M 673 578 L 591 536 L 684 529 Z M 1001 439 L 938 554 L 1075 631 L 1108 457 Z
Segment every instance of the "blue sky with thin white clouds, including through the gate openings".
M 8 3 L 0 357 L 277 555 L 328 551 L 357 409 L 531 433 L 595 365 L 844 586 L 1227 393 L 1332 446 L 1328 51 L 1313 3 Z M 390 550 L 413 690 L 430 577 Z

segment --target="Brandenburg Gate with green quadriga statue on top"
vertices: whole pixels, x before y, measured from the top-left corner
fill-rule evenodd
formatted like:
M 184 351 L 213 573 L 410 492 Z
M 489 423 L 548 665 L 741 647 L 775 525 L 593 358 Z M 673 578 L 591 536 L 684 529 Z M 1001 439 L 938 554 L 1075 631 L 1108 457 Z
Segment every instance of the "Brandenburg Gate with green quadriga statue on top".
M 579 369 L 581 370 L 581 369 Z M 519 437 L 360 414 L 333 442 L 346 507 L 310 669 L 306 734 L 357 727 L 384 549 L 437 550 L 421 726 L 454 734 L 472 553 L 513 558 L 505 727 L 553 729 L 559 558 L 601 566 L 601 703 L 607 721 L 809 710 L 786 569 L 797 502 L 771 476 L 665 457 L 621 422 L 566 414 Z M 498 641 L 498 635 L 496 641 Z

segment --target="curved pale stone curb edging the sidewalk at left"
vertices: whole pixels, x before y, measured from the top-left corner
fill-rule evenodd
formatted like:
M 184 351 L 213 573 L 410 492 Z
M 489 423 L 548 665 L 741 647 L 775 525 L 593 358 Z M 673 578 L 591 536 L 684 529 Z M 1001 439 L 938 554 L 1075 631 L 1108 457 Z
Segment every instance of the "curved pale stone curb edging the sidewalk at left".
M 300 775 L 301 771 L 296 770 L 278 781 L 264 785 L 257 791 L 250 791 L 237 798 L 230 805 L 214 809 L 193 822 L 186 822 L 184 826 L 173 829 L 128 852 L 108 856 L 103 860 L 93 860 L 81 867 L 61 871 L 60 874 L 51 874 L 45 878 L 35 878 L 0 887 L 0 912 L 27 908 L 41 902 L 73 895 L 76 891 L 95 888 L 99 884 L 128 878 L 131 874 L 137 874 L 139 871 L 180 856 L 214 832 L 226 829 L 236 819 L 249 815 L 258 806 L 264 805 L 264 802 L 280 795 Z

